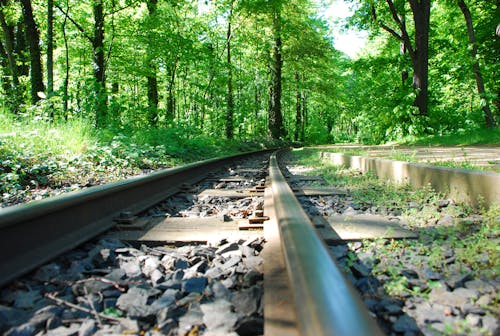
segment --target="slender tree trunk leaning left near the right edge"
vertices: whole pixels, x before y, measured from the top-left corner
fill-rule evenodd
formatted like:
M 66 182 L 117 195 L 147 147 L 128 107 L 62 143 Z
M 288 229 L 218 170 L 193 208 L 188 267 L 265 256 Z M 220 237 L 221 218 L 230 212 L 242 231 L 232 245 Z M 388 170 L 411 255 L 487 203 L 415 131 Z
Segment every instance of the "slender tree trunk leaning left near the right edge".
M 479 97 L 484 100 L 483 112 L 484 112 L 484 121 L 486 123 L 486 127 L 493 128 L 495 127 L 495 119 L 493 118 L 493 114 L 491 113 L 490 105 L 488 104 L 488 100 L 486 99 L 486 90 L 484 88 L 484 80 L 481 74 L 481 69 L 479 68 L 479 61 L 476 57 L 477 55 L 477 41 L 476 35 L 474 33 L 474 26 L 472 25 L 472 15 L 470 14 L 469 7 L 464 0 L 457 1 L 458 7 L 462 11 L 465 19 L 465 24 L 467 25 L 467 32 L 469 34 L 469 43 L 472 45 L 472 49 L 470 51 L 472 59 L 474 63 L 472 64 L 472 72 L 474 73 L 474 77 L 476 78 L 476 86 L 477 93 L 479 93 Z

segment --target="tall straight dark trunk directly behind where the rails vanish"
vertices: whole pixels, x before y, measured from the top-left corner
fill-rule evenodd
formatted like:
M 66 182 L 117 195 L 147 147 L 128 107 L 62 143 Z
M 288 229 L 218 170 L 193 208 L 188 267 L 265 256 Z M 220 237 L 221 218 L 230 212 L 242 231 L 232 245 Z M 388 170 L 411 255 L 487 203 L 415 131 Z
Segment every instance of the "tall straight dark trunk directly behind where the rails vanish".
M 281 3 L 273 6 L 273 61 L 271 65 L 271 87 L 269 98 L 269 131 L 273 139 L 283 138 L 283 115 L 281 114 Z

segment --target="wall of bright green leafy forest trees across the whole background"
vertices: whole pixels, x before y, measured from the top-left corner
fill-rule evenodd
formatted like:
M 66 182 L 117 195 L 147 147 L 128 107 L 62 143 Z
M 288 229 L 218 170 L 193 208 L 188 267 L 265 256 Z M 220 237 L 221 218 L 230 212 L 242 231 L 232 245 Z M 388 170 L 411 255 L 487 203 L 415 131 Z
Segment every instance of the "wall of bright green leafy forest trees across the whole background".
M 307 143 L 496 127 L 498 1 L 348 2 L 355 59 L 329 1 L 0 0 L 0 113 Z

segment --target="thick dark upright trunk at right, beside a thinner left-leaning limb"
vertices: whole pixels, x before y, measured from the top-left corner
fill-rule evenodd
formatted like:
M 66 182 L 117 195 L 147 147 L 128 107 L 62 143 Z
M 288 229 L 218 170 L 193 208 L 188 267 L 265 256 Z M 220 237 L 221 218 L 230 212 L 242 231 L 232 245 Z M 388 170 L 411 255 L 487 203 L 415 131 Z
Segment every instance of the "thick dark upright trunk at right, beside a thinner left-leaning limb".
M 429 101 L 429 25 L 430 0 L 409 0 L 415 23 L 413 87 L 417 90 L 415 106 L 421 116 L 428 114 Z

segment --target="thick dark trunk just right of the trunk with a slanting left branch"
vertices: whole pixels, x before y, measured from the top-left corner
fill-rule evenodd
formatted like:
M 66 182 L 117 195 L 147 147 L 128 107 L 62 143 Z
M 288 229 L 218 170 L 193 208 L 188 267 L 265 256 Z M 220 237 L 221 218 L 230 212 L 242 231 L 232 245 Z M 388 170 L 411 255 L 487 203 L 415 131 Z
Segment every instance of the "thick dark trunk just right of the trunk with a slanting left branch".
M 158 0 L 149 0 L 147 5 L 148 5 L 148 13 L 149 17 L 152 18 L 155 15 L 156 12 L 156 5 L 158 3 Z M 149 108 L 149 113 L 148 113 L 148 119 L 150 125 L 157 126 L 158 125 L 158 80 L 156 78 L 156 65 L 154 63 L 154 56 L 153 56 L 153 46 L 152 46 L 152 41 L 148 41 L 149 44 L 149 52 L 146 60 L 146 66 L 147 66 L 147 71 L 148 75 L 147 80 L 148 80 L 148 108 Z

